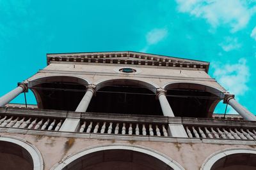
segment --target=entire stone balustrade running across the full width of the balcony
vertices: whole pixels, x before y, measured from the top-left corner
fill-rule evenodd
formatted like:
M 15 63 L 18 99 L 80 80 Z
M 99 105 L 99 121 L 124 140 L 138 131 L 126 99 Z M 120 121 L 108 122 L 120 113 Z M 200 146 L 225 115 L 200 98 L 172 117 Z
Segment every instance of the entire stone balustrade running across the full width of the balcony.
M 255 140 L 256 124 L 244 120 L 214 118 L 164 117 L 152 115 L 124 115 L 111 113 L 80 113 L 60 110 L 0 108 L 1 131 L 35 131 L 51 134 L 63 131 L 66 118 L 78 120 L 78 136 L 147 136 L 186 139 Z M 178 127 L 179 129 L 175 129 Z M 23 129 L 23 130 L 22 130 Z M 183 136 L 179 134 L 184 131 Z M 43 132 L 44 131 L 44 132 Z M 71 132 L 71 131 L 63 131 Z M 177 132 L 177 134 L 175 134 Z M 175 136 L 176 135 L 176 136 Z M 105 138 L 104 137 L 104 138 Z M 168 138 L 166 138 L 168 137 Z M 133 137 L 132 137 L 133 138 Z M 174 139 L 174 138 L 173 138 Z

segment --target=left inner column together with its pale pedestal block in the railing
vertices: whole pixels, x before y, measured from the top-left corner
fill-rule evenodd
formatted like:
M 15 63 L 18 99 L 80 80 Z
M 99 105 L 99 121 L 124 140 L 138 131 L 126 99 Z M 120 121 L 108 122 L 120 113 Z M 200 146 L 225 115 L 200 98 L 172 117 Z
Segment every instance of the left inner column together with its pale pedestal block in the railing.
M 93 94 L 95 93 L 95 85 L 89 85 L 83 99 L 76 108 L 76 112 L 85 112 L 90 104 Z M 61 125 L 60 131 L 76 132 L 80 125 L 80 118 L 66 118 Z

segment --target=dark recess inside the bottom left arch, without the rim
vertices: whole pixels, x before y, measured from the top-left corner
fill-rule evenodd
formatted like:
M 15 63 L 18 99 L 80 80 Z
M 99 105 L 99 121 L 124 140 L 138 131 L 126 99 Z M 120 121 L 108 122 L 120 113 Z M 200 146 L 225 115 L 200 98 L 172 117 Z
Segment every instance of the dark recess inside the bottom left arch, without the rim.
M 32 170 L 33 159 L 22 146 L 0 141 L 0 165 L 1 170 Z

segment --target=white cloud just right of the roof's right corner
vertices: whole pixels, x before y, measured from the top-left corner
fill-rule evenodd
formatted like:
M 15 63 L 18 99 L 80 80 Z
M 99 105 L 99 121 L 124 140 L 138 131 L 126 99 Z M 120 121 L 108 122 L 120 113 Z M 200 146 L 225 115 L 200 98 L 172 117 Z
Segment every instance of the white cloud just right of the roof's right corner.
M 241 58 L 237 64 L 213 64 L 214 77 L 227 89 L 230 94 L 235 94 L 236 99 L 243 96 L 248 90 L 247 83 L 250 80 L 250 71 L 246 66 L 246 59 Z

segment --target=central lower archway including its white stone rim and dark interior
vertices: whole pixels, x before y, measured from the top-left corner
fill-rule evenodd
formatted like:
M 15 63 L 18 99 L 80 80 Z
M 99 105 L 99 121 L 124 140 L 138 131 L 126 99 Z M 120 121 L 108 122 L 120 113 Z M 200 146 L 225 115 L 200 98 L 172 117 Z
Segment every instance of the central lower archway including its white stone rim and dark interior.
M 175 160 L 147 148 L 134 145 L 105 145 L 72 154 L 51 169 L 181 170 L 184 168 Z

